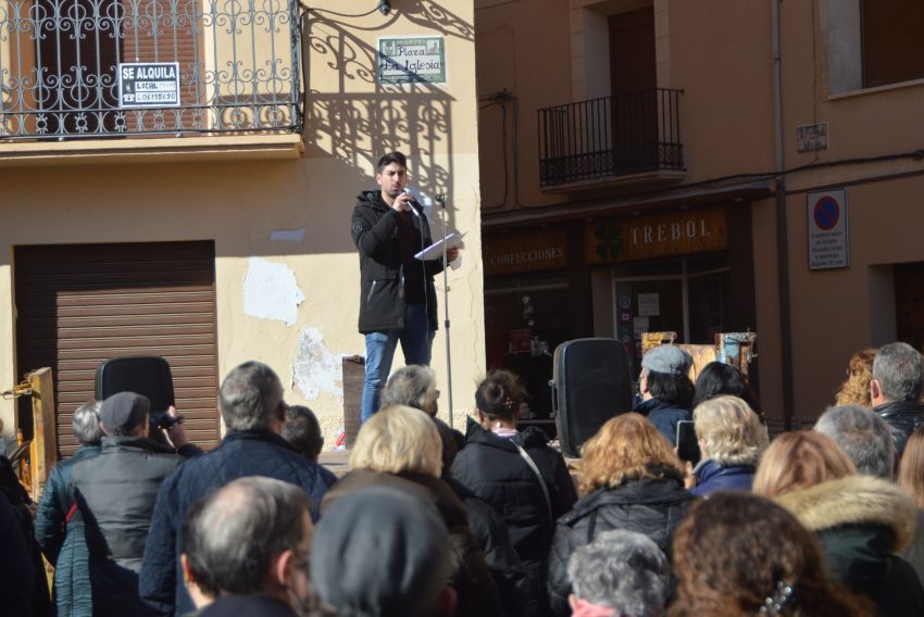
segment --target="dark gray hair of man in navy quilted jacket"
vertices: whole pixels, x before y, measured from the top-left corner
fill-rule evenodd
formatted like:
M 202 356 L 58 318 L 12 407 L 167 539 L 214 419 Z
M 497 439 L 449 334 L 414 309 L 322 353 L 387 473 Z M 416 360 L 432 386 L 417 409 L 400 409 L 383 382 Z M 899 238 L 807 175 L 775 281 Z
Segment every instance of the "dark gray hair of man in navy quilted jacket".
M 262 362 L 246 362 L 222 382 L 222 417 L 228 430 L 269 429 L 283 404 L 283 383 Z

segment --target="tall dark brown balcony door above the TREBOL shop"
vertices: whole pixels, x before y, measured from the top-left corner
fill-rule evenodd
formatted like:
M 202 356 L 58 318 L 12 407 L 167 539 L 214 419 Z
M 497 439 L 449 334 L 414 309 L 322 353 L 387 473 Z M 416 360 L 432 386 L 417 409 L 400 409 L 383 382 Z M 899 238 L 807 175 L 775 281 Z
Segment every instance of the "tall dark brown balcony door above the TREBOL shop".
M 610 86 L 616 175 L 658 167 L 654 9 L 612 15 Z

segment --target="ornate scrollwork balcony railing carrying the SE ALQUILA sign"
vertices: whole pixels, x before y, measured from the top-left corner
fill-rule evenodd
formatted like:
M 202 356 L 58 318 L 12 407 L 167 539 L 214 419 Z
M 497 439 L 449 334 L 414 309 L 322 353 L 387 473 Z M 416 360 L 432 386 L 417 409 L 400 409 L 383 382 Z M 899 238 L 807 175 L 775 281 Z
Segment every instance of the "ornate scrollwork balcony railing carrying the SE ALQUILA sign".
M 299 130 L 298 25 L 296 0 L 0 0 L 0 140 Z

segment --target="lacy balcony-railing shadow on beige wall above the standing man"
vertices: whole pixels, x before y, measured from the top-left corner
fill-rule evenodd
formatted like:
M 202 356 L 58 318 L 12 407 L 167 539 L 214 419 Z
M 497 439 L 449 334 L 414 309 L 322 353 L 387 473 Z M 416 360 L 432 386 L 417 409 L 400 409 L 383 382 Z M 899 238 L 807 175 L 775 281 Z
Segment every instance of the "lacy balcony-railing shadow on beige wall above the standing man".
M 370 13 L 349 15 L 308 10 L 302 53 L 307 66 L 307 151 L 309 156 L 333 156 L 351 168 L 360 181 L 349 193 L 350 198 L 362 189 L 375 187 L 369 169 L 384 153 L 404 152 L 409 158 L 410 186 L 426 196 L 448 196 L 446 214 L 451 229 L 455 221 L 451 111 L 454 99 L 440 86 L 423 81 L 378 83 L 378 51 L 374 41 L 378 30 L 398 20 L 420 26 L 421 36 L 441 35 L 467 41 L 474 41 L 474 28 L 429 0 L 396 1 L 392 7 L 396 10 L 383 17 L 380 25 L 364 30 L 351 21 L 365 18 Z M 361 37 L 362 34 L 365 36 Z M 323 56 L 326 71 L 337 73 L 334 91 L 313 87 L 311 67 L 319 65 L 319 56 Z M 355 92 L 370 89 L 373 91 Z M 432 222 L 434 234 L 440 232 L 438 214 L 434 213 Z

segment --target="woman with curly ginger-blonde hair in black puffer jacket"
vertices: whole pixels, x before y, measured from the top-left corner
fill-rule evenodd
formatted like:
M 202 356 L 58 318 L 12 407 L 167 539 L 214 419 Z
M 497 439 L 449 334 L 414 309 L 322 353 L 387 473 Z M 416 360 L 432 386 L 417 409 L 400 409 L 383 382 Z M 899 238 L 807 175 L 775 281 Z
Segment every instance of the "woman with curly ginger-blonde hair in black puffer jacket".
M 567 615 L 572 592 L 569 557 L 611 529 L 650 538 L 670 555 L 674 528 L 695 498 L 684 490 L 684 470 L 663 435 L 636 413 L 616 416 L 584 444 L 574 509 L 555 525 L 549 555 L 552 613 Z

